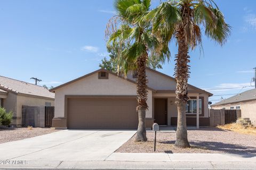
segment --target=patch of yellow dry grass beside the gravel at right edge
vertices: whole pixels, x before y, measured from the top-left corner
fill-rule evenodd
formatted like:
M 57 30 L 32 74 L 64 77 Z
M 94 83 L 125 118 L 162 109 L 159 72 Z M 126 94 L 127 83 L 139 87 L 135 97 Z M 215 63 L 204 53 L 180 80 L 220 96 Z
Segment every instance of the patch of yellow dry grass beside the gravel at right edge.
M 256 135 L 256 129 L 253 127 L 249 128 L 243 128 L 243 126 L 239 123 L 230 123 L 230 124 L 225 124 L 225 125 L 219 125 L 217 128 L 224 129 L 224 130 L 230 130 L 230 131 L 235 131 L 238 133 L 243 133 L 243 134 L 254 134 Z

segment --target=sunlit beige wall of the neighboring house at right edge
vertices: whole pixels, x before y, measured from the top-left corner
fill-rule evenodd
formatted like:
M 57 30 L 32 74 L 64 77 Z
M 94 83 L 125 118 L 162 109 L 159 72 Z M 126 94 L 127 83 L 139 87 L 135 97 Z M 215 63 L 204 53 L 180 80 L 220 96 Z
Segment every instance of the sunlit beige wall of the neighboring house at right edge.
M 222 109 L 223 107 L 225 107 L 226 109 L 230 109 L 230 107 L 234 107 L 234 109 L 236 109 L 236 106 L 240 106 L 241 116 L 243 118 L 250 118 L 252 124 L 256 126 L 256 100 L 235 104 L 226 104 L 221 106 L 212 106 L 212 108 Z

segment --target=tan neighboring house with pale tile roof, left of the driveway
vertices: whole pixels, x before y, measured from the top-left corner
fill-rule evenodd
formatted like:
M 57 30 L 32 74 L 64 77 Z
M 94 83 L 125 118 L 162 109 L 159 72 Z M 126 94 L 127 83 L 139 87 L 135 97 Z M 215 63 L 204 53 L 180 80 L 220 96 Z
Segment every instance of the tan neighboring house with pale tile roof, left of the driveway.
M 54 106 L 54 93 L 35 84 L 0 76 L 0 104 L 13 112 L 12 124 L 20 127 L 22 106 Z

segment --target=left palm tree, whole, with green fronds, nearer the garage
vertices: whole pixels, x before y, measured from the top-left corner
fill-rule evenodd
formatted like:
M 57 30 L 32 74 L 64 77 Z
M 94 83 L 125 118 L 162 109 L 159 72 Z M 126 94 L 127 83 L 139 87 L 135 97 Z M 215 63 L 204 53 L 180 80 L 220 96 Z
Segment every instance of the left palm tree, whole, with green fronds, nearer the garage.
M 118 68 L 126 75 L 129 70 L 136 70 L 137 77 L 137 100 L 139 124 L 135 141 L 147 141 L 145 117 L 147 105 L 147 76 L 146 63 L 149 54 L 157 55 L 164 61 L 169 57 L 169 50 L 162 48 L 159 41 L 152 34 L 150 22 L 143 20 L 149 12 L 150 0 L 115 0 L 114 8 L 116 16 L 107 24 L 106 36 L 110 43 L 127 48 L 118 52 Z

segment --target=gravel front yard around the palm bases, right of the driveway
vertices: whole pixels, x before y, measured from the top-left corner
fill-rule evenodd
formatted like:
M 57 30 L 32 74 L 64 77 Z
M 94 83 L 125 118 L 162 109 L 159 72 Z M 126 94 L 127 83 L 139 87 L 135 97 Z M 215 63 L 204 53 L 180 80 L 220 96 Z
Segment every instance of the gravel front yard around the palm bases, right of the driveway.
M 154 152 L 154 132 L 147 132 L 147 142 L 134 142 L 135 135 L 116 152 Z M 188 130 L 191 148 L 174 147 L 175 132 L 157 132 L 156 139 L 156 152 L 256 154 L 256 135 L 218 128 Z

